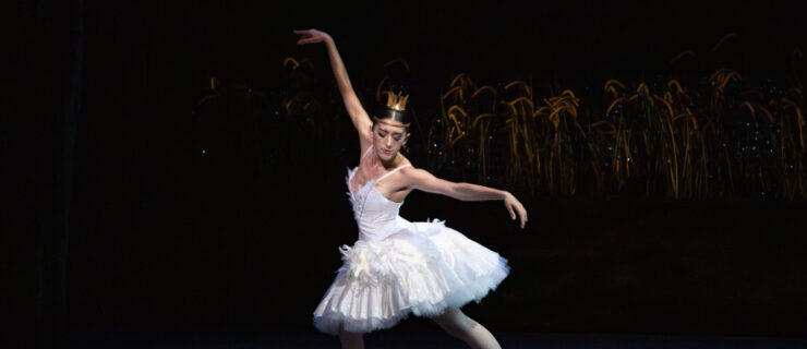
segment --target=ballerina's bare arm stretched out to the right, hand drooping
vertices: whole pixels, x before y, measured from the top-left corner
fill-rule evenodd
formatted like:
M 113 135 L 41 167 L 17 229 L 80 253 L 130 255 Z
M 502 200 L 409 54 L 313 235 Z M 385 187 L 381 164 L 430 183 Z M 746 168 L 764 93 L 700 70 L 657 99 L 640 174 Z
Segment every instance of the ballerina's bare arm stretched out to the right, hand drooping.
M 502 200 L 510 213 L 511 219 L 515 220 L 516 215 L 518 215 L 520 227 L 523 228 L 525 224 L 527 224 L 527 209 L 509 192 L 484 185 L 447 181 L 434 177 L 426 170 L 415 168 L 408 169 L 407 178 L 413 189 L 443 194 L 461 201 Z

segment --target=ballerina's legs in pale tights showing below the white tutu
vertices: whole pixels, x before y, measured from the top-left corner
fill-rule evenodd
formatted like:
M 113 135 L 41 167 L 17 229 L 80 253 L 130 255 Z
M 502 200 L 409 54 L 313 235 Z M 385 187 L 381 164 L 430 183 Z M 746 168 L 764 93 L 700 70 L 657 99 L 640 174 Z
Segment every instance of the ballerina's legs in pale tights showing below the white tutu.
M 496 338 L 459 309 L 446 309 L 445 313 L 432 317 L 449 335 L 468 344 L 473 349 L 501 349 Z M 364 349 L 361 334 L 344 330 L 339 327 L 339 339 L 342 349 Z

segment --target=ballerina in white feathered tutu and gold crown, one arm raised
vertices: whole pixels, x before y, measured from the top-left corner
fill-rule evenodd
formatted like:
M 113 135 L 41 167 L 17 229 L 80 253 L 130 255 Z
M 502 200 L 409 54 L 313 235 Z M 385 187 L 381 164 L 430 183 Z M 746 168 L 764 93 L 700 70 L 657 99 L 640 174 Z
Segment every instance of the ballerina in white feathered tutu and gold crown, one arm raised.
M 334 39 L 326 33 L 294 31 L 298 45 L 325 43 L 339 92 L 359 132 L 361 158 L 348 171 L 348 190 L 359 225 L 359 240 L 342 246 L 345 264 L 314 311 L 314 325 L 339 335 L 342 348 L 363 348 L 362 334 L 388 328 L 409 313 L 433 318 L 471 348 L 499 348 L 482 325 L 460 308 L 479 302 L 507 276 L 507 260 L 442 221 L 410 222 L 400 216 L 414 189 L 462 201 L 502 200 L 510 218 L 527 222 L 513 194 L 487 186 L 455 183 L 414 168 L 399 153 L 409 140 L 407 97 L 387 95 L 387 105 L 370 118 L 350 85 Z

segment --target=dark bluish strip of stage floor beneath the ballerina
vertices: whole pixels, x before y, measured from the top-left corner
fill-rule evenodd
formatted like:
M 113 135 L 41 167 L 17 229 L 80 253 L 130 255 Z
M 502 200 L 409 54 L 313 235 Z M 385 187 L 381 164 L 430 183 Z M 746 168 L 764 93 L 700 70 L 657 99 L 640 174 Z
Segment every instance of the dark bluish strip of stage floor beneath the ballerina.
M 495 332 L 503 348 L 663 348 L 663 349 L 796 349 L 807 348 L 807 337 L 676 336 L 630 334 L 569 334 Z M 365 336 L 368 348 L 467 348 L 436 326 L 393 328 Z M 75 334 L 69 348 L 339 348 L 336 337 L 313 328 L 274 327 L 263 330 L 186 332 L 167 335 L 117 330 Z

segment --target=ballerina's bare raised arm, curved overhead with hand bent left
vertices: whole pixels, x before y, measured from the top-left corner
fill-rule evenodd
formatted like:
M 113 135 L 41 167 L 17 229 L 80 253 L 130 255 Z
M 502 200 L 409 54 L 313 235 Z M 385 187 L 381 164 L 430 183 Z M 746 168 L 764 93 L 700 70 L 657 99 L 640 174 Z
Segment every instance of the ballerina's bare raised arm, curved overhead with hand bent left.
M 297 41 L 297 45 L 325 43 L 325 46 L 328 49 L 330 68 L 334 71 L 336 84 L 339 86 L 339 93 L 345 101 L 345 108 L 348 109 L 350 119 L 353 121 L 353 127 L 356 127 L 356 130 L 359 132 L 359 139 L 363 144 L 372 143 L 370 128 L 373 122 L 370 120 L 368 112 L 361 106 L 359 97 L 356 96 L 353 86 L 350 84 L 350 79 L 348 77 L 348 71 L 345 69 L 345 63 L 341 61 L 339 51 L 336 50 L 334 38 L 332 38 L 327 33 L 317 29 L 294 31 L 294 34 L 301 36 Z M 362 148 L 364 148 L 364 146 L 362 146 Z

